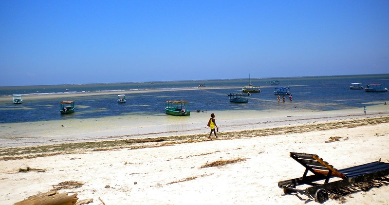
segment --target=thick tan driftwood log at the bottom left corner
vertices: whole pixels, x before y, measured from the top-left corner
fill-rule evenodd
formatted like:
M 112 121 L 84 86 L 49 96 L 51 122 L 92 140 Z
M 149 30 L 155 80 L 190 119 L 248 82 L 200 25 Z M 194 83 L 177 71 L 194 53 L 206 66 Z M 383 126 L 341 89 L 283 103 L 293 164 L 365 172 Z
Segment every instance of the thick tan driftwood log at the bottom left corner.
M 14 205 L 75 205 L 77 200 L 77 194 L 68 196 L 68 193 L 49 191 L 30 196 L 23 201 L 15 203 Z

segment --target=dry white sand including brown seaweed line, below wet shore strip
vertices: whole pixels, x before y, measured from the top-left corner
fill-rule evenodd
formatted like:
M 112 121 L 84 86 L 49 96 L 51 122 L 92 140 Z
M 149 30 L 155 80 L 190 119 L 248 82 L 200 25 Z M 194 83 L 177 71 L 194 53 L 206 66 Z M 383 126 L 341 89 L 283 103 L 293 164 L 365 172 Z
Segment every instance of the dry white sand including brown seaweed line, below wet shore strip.
M 376 113 L 377 114 L 377 113 Z M 338 115 L 341 115 L 338 113 Z M 58 192 L 92 198 L 92 204 L 306 204 L 304 195 L 284 195 L 278 181 L 301 176 L 289 152 L 317 154 L 334 168 L 389 160 L 389 116 L 344 114 L 337 119 L 220 132 L 139 139 L 1 148 L 0 198 L 5 204 L 44 193 L 61 182 L 82 182 Z M 239 126 L 241 128 L 241 126 Z M 326 143 L 332 137 L 338 140 Z M 149 139 L 149 138 L 147 138 Z M 133 141 L 131 141 L 133 140 Z M 109 144 L 121 142 L 122 144 Z M 74 145 L 74 147 L 72 147 Z M 65 148 L 56 150 L 56 146 Z M 29 150 L 28 150 L 29 149 Z M 12 154 L 12 151 L 20 154 Z M 217 160 L 244 159 L 214 168 Z M 389 161 L 388 161 L 389 162 Z M 45 172 L 18 172 L 22 165 Z M 92 174 L 93 173 L 93 174 Z M 20 186 L 23 184 L 23 186 Z M 6 187 L 6 188 L 5 188 Z M 389 186 L 330 199 L 325 204 L 385 204 Z

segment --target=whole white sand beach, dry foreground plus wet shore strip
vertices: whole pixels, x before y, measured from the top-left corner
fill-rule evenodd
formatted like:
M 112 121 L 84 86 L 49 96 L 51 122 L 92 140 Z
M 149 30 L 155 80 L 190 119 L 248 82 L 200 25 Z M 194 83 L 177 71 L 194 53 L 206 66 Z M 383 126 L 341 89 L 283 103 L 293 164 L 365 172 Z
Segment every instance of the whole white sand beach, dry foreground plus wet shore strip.
M 315 204 L 305 195 L 284 195 L 278 187 L 279 181 L 301 177 L 305 169 L 289 157 L 289 152 L 317 154 L 337 169 L 380 158 L 389 163 L 388 109 L 389 106 L 370 106 L 367 115 L 362 109 L 255 115 L 217 112 L 219 138 L 212 140 L 207 139 L 206 127 L 210 112 L 194 113 L 180 126 L 175 118 L 153 120 L 156 123 L 146 128 L 141 123 L 129 125 L 124 119 L 105 123 L 68 121 L 66 127 L 47 123 L 36 130 L 37 125 L 22 125 L 29 130 L 27 138 L 18 129 L 6 128 L 2 133 L 8 132 L 10 138 L 2 139 L 3 147 L 175 135 L 182 139 L 100 150 L 80 148 L 35 157 L 31 155 L 42 151 L 31 147 L 30 154 L 0 160 L 0 199 L 12 205 L 61 182 L 76 181 L 83 185 L 58 192 L 77 193 L 80 200 L 93 198 L 92 205 Z M 352 121 L 357 123 L 347 125 Z M 97 130 L 92 126 L 96 123 Z M 192 135 L 191 140 L 186 142 L 183 135 Z M 326 143 L 333 137 L 338 141 Z M 201 168 L 218 160 L 239 158 L 241 161 L 236 163 Z M 46 171 L 18 172 L 22 165 Z M 354 192 L 342 200 L 329 199 L 325 204 L 385 205 L 389 202 L 388 192 L 387 184 Z

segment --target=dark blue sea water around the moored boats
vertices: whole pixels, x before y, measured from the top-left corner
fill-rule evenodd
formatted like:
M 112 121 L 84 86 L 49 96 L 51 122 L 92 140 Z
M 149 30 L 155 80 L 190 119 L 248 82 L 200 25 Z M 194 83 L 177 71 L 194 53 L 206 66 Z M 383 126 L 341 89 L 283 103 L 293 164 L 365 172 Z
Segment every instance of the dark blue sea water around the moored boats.
M 279 80 L 280 85 L 270 81 Z M 216 112 L 228 110 L 283 110 L 291 109 L 329 111 L 362 108 L 389 103 L 389 92 L 368 93 L 351 90 L 350 84 L 361 82 L 365 86 L 381 83 L 389 88 L 389 74 L 342 75 L 283 78 L 251 78 L 251 84 L 260 86 L 261 93 L 252 93 L 248 103 L 231 103 L 227 93 L 241 92 L 249 79 L 216 79 L 193 81 L 164 81 L 136 83 L 101 83 L 72 85 L 41 85 L 0 87 L 0 123 L 19 123 L 64 118 L 99 118 L 119 115 L 164 115 L 165 100 L 187 100 L 188 108 Z M 200 83 L 205 88 L 199 88 Z M 290 87 L 293 102 L 278 103 L 276 87 Z M 187 90 L 185 90 L 187 89 Z M 126 94 L 127 103 L 118 104 L 117 94 Z M 138 91 L 148 91 L 138 92 Z M 138 93 L 137 93 L 138 92 Z M 88 93 L 83 95 L 82 93 Z M 103 94 L 102 94 L 103 93 Z M 22 94 L 23 103 L 14 105 L 12 94 Z M 37 96 L 31 97 L 29 96 Z M 47 97 L 50 96 L 50 97 Z M 59 102 L 74 100 L 76 110 L 61 115 Z

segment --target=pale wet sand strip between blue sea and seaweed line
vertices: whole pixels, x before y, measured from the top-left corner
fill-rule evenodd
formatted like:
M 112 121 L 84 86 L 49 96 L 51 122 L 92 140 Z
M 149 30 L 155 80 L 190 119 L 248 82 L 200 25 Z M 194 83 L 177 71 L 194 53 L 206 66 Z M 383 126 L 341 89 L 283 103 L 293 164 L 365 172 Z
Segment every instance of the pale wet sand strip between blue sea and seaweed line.
M 288 112 L 277 110 L 215 111 L 215 114 L 221 133 L 389 114 L 389 106 L 382 103 L 367 107 L 366 115 L 362 108 L 322 112 L 297 109 Z M 211 113 L 212 111 L 192 112 L 186 117 L 175 117 L 165 113 L 153 116 L 129 114 L 87 119 L 70 118 L 3 123 L 0 130 L 0 148 L 193 134 L 206 135 L 208 133 L 206 122 Z

